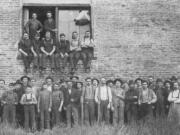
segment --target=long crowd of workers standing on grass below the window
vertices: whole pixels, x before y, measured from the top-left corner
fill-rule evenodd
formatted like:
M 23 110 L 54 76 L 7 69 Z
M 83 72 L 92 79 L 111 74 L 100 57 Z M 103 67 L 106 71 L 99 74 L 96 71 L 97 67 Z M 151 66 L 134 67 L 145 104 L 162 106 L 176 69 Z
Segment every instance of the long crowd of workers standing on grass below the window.
M 81 81 L 72 76 L 56 82 L 47 77 L 39 87 L 35 79 L 23 76 L 6 87 L 0 80 L 0 112 L 3 122 L 23 126 L 27 131 L 63 123 L 67 127 L 93 126 L 97 122 L 117 126 L 153 116 L 165 118 L 171 103 L 180 101 L 178 81 L 175 77 L 156 82 L 153 77 L 127 82 L 88 77 Z

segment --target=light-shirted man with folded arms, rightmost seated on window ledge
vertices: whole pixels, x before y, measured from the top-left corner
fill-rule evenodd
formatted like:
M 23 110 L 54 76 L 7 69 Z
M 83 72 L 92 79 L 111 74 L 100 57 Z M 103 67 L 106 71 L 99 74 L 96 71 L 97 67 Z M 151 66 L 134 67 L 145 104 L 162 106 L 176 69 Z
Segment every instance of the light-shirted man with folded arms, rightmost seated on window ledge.
M 81 43 L 81 48 L 82 48 L 81 55 L 84 60 L 85 72 L 90 71 L 94 47 L 95 47 L 95 44 L 94 44 L 93 39 L 91 38 L 91 33 L 90 33 L 90 31 L 86 31 L 84 40 Z

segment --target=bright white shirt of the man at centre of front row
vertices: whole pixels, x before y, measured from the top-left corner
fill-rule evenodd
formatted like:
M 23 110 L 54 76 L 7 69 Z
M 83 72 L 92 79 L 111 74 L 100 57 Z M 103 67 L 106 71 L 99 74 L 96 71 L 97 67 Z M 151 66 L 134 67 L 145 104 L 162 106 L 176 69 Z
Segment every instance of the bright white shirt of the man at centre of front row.
M 99 100 L 109 100 L 109 102 L 112 102 L 112 93 L 110 87 L 105 85 L 96 88 L 95 101 L 98 102 Z

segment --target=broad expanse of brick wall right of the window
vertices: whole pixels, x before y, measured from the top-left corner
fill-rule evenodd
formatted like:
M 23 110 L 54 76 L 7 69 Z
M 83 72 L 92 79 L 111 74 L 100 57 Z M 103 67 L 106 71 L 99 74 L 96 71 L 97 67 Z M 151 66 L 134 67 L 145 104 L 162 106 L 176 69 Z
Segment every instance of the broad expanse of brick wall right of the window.
M 180 73 L 179 0 L 94 0 L 94 72 L 129 78 Z

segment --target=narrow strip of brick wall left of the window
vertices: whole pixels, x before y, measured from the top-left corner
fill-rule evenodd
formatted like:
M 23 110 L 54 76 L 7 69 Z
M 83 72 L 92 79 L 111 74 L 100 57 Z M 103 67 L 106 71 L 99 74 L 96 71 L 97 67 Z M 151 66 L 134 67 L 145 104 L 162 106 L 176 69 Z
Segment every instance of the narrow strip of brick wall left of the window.
M 21 33 L 20 0 L 0 0 L 0 78 L 8 82 L 22 74 L 21 62 L 16 60 L 16 42 Z

